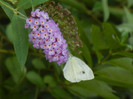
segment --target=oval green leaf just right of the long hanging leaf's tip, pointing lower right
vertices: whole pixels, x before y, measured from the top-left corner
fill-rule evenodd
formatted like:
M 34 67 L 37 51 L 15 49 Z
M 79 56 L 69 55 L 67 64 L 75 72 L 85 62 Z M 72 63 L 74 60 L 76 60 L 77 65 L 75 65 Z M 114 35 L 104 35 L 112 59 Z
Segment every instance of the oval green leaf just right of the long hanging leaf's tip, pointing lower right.
M 36 86 L 45 87 L 42 78 L 36 72 L 29 71 L 26 77 L 31 83 L 35 84 Z

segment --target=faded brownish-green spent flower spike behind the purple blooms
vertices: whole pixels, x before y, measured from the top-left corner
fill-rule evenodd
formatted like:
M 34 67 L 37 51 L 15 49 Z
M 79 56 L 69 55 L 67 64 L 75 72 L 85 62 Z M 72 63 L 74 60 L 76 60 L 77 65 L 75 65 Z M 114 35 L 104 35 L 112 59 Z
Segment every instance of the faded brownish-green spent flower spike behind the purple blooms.
M 77 23 L 75 18 L 71 15 L 71 12 L 54 1 L 45 2 L 37 6 L 37 8 L 47 12 L 49 17 L 59 24 L 60 31 L 66 39 L 69 51 L 80 54 L 82 52 L 80 49 L 83 46 L 79 38 Z

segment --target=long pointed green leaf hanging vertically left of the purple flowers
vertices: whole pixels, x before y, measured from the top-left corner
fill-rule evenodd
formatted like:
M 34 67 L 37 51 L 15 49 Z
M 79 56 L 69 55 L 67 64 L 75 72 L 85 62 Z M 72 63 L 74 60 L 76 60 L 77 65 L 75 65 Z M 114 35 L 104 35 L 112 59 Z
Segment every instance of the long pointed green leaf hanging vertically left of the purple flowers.
M 28 33 L 24 28 L 25 20 L 18 15 L 12 18 L 12 30 L 14 35 L 13 45 L 16 56 L 21 66 L 25 65 L 28 54 Z

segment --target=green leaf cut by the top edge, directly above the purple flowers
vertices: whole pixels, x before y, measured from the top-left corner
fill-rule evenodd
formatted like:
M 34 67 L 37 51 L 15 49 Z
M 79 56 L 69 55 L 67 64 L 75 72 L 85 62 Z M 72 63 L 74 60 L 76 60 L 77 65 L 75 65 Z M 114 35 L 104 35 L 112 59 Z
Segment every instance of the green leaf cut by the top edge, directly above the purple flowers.
M 32 6 L 36 6 L 42 3 L 45 3 L 48 0 L 20 0 L 18 3 L 18 9 L 28 9 Z

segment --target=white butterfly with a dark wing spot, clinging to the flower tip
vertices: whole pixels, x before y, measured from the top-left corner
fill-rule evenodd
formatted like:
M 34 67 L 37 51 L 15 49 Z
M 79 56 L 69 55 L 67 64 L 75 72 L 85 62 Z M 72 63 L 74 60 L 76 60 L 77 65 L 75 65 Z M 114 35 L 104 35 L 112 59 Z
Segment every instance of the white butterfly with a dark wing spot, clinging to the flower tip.
M 70 56 L 63 68 L 65 79 L 70 82 L 80 82 L 82 80 L 91 80 L 94 78 L 93 71 L 81 59 Z

